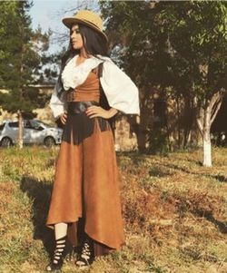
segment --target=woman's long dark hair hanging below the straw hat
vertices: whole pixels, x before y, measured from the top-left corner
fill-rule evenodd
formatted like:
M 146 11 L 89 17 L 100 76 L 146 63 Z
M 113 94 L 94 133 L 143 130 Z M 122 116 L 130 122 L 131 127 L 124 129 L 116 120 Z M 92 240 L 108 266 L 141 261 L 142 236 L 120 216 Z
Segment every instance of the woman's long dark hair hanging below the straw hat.
M 105 40 L 104 36 L 84 24 L 78 24 L 78 26 L 80 29 L 80 33 L 82 35 L 84 49 L 85 49 L 86 53 L 92 54 L 97 58 L 98 58 L 97 54 L 109 57 L 108 45 L 107 45 L 107 41 Z M 80 53 L 80 50 L 74 49 L 72 42 L 70 40 L 68 50 L 65 52 L 64 56 L 62 57 L 61 71 L 63 71 L 66 61 L 68 59 L 73 58 L 74 55 L 79 54 L 79 53 Z

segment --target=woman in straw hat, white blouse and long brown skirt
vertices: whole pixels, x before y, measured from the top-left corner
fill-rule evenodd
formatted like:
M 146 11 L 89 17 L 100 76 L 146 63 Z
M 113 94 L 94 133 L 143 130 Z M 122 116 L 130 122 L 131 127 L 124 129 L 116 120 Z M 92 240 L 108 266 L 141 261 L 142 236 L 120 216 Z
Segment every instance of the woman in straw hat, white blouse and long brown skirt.
M 56 243 L 47 270 L 62 267 L 66 239 L 80 246 L 77 266 L 90 265 L 96 256 L 123 246 L 109 121 L 118 111 L 140 112 L 136 86 L 107 55 L 99 15 L 84 10 L 64 18 L 63 23 L 70 29 L 70 47 L 50 102 L 54 118 L 64 124 L 64 133 L 46 222 L 54 229 Z

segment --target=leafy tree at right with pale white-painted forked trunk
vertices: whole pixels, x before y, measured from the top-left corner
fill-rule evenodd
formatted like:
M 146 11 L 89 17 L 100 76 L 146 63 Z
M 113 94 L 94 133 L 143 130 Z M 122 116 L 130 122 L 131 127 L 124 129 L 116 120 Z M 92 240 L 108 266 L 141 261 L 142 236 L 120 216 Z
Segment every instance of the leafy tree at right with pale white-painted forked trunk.
M 212 166 L 211 126 L 227 87 L 226 14 L 226 3 L 190 1 L 165 3 L 160 15 L 172 48 L 173 87 L 192 100 L 203 141 L 203 166 Z

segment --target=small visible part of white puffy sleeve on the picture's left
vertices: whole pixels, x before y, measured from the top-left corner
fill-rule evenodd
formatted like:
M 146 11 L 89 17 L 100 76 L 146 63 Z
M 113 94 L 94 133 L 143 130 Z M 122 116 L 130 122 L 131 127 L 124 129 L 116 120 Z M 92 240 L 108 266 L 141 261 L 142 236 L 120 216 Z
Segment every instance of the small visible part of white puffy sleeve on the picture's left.
M 56 86 L 54 87 L 54 92 L 52 93 L 49 106 L 53 112 L 55 120 L 57 120 L 59 116 L 66 110 L 67 102 L 65 100 L 65 93 L 63 93 L 61 98 L 59 98 L 57 96 Z

